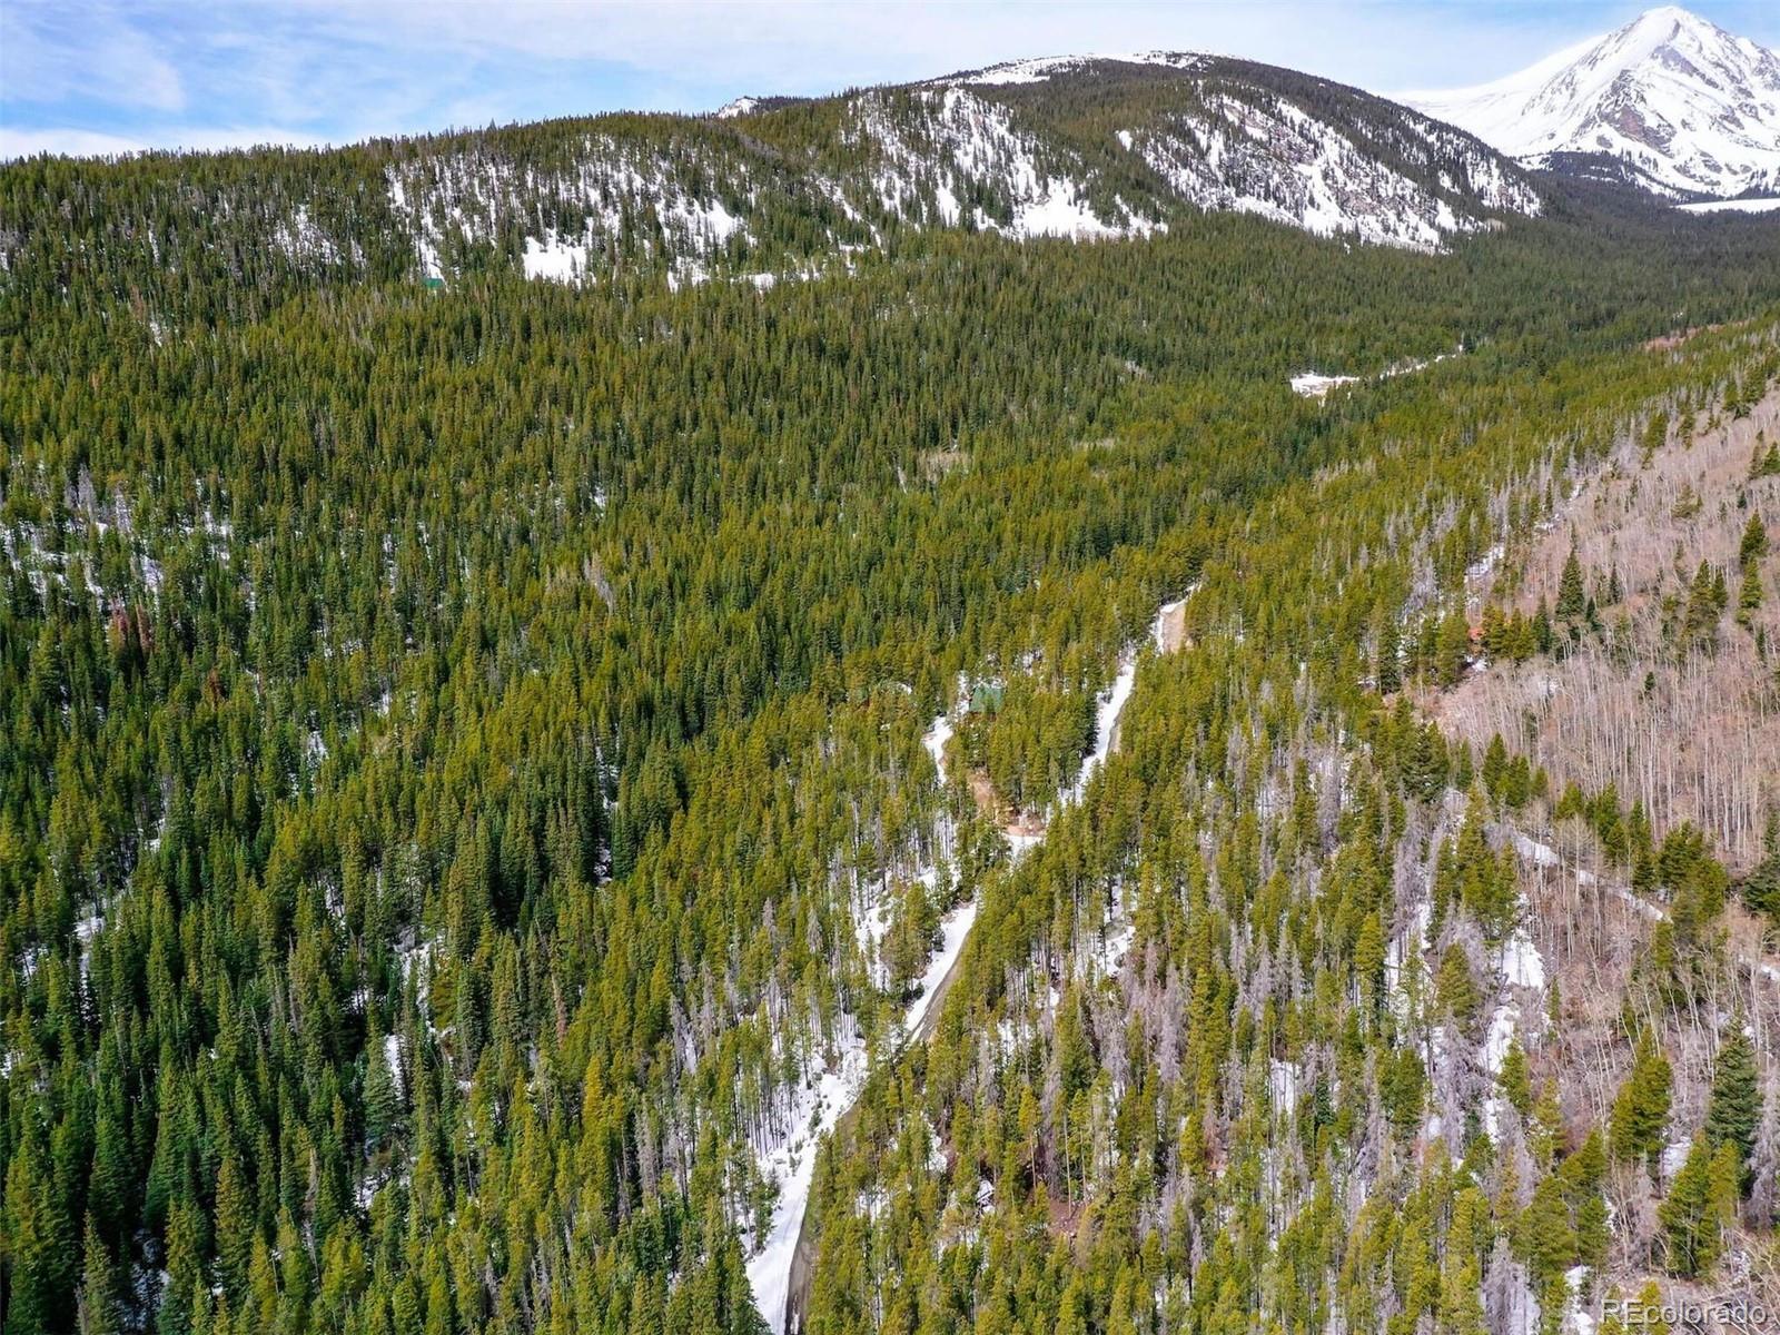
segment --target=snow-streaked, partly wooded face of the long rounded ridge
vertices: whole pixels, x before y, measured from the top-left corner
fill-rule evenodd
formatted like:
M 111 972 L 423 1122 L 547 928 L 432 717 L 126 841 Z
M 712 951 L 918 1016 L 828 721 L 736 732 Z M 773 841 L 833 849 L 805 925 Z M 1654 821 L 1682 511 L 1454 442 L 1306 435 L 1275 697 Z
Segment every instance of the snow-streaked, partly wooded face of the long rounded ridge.
M 427 272 L 488 244 L 548 278 L 639 253 L 680 276 L 773 272 L 901 228 L 1141 237 L 1198 210 L 1438 249 L 1540 210 L 1527 176 L 1467 134 L 1356 89 L 1191 53 L 742 98 L 716 117 L 625 117 L 623 132 L 618 119 L 406 146 L 392 192 Z

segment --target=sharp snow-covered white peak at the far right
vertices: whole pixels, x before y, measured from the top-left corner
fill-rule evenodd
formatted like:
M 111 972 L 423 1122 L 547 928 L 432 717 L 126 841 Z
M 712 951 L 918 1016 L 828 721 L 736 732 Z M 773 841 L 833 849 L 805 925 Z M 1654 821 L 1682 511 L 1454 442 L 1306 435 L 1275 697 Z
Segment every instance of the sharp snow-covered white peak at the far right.
M 1401 100 L 1529 166 L 1606 155 L 1675 198 L 1780 192 L 1780 55 L 1675 5 L 1493 84 Z

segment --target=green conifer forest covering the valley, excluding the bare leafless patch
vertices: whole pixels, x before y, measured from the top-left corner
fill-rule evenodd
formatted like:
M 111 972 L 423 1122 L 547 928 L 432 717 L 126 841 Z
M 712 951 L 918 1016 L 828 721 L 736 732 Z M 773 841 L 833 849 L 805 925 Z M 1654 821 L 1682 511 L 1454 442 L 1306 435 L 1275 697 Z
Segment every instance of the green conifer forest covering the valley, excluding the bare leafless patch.
M 1161 84 L 990 119 L 1178 153 Z M 854 1095 L 812 1331 L 1509 1331 L 1771 1266 L 1721 851 L 1645 829 L 1670 929 L 1582 1080 L 1581 910 L 1513 853 L 1559 796 L 1429 719 L 1550 479 L 1769 392 L 1780 235 L 1552 187 L 1353 246 L 1107 166 L 1169 226 L 1086 244 L 787 166 L 934 98 L 0 169 L 9 1335 L 778 1328 Z M 678 221 L 538 187 L 644 157 Z M 598 281 L 525 276 L 564 231 Z

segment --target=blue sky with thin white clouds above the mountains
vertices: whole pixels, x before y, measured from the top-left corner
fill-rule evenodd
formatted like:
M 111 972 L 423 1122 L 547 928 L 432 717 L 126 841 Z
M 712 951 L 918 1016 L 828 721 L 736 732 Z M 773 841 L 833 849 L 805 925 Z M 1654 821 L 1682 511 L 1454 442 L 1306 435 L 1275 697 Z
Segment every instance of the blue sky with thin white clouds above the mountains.
M 0 0 L 0 157 L 710 110 L 1022 55 L 1210 50 L 1378 91 L 1511 73 L 1630 0 Z M 1776 0 L 1695 12 L 1780 46 Z

